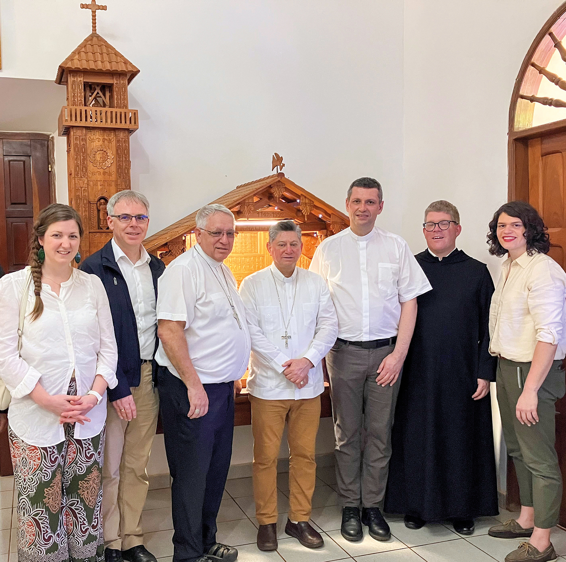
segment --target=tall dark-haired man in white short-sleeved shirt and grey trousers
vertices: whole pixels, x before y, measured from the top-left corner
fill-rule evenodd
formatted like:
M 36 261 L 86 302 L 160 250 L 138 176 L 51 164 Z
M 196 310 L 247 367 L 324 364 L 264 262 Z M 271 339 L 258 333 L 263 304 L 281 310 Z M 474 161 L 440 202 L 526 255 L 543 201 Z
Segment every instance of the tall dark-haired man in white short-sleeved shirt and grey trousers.
M 341 533 L 348 541 L 359 541 L 363 523 L 372 538 L 387 541 L 391 531 L 380 507 L 391 457 L 397 379 L 413 336 L 417 297 L 432 287 L 404 239 L 376 228 L 383 210 L 378 181 L 355 180 L 346 210 L 350 227 L 325 239 L 310 266 L 327 282 L 338 316 L 338 339 L 326 362 Z

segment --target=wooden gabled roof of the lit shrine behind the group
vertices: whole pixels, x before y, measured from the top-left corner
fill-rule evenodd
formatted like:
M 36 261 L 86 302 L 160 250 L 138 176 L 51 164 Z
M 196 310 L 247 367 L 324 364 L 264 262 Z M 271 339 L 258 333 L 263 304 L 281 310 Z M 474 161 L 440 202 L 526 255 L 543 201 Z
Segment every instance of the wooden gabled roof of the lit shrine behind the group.
M 256 198 L 258 201 L 255 201 Z M 291 201 L 287 201 L 288 199 Z M 271 204 L 274 208 L 286 210 L 289 217 L 293 214 L 295 217 L 301 216 L 303 221 L 308 221 L 313 230 L 340 232 L 350 224 L 348 215 L 295 184 L 282 172 L 239 185 L 211 203 L 221 203 L 228 207 L 237 219 L 258 218 L 261 209 L 257 210 L 256 207 Z M 145 248 L 155 253 L 174 238 L 190 233 L 196 226 L 197 211 L 147 238 L 144 241 Z

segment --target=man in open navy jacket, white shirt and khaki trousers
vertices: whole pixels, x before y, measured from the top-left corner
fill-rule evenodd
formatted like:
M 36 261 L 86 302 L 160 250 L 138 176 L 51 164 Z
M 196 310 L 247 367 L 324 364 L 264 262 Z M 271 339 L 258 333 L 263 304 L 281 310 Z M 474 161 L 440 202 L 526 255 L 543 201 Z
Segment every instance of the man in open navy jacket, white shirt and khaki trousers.
M 149 203 L 144 195 L 118 191 L 108 201 L 107 210 L 114 236 L 80 267 L 104 284 L 118 344 L 118 386 L 108 391 L 102 474 L 104 556 L 106 562 L 156 562 L 143 546 L 141 510 L 159 411 L 153 358 L 157 278 L 165 265 L 142 245 L 149 226 Z

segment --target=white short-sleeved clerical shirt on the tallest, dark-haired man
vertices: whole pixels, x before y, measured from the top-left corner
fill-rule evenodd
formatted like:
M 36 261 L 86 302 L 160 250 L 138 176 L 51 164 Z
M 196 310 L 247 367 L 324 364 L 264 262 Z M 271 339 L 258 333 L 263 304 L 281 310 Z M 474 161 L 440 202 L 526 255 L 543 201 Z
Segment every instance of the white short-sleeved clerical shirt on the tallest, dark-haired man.
M 320 243 L 310 271 L 327 282 L 338 315 L 338 337 L 352 342 L 397 336 L 401 304 L 432 289 L 408 244 L 374 228 L 346 228 Z

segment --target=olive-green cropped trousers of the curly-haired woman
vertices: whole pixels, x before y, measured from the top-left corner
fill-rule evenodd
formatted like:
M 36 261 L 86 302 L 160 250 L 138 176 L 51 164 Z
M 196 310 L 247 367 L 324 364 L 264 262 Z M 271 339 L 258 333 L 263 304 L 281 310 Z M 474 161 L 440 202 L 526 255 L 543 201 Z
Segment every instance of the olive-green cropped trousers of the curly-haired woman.
M 499 359 L 497 368 L 497 401 L 507 453 L 517 472 L 521 505 L 534 508 L 534 524 L 539 529 L 554 527 L 560 515 L 562 477 L 554 442 L 555 403 L 566 390 L 561 364 L 561 360 L 552 362 L 538 391 L 538 422 L 530 427 L 515 415 L 530 363 Z

